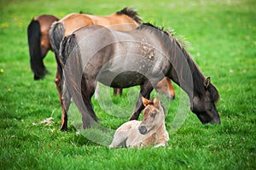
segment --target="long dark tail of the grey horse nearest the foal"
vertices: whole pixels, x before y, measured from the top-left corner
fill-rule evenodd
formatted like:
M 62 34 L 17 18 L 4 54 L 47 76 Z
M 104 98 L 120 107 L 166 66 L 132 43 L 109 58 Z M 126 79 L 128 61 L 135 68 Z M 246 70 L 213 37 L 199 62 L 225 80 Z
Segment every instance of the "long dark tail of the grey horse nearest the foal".
M 84 92 L 82 92 L 81 89 L 81 85 L 84 84 L 82 82 L 84 81 L 82 59 L 74 34 L 63 38 L 60 46 L 60 56 L 61 64 L 64 69 L 63 79 L 65 86 L 82 114 L 83 127 L 90 127 L 90 122 L 92 120 L 97 121 L 97 117 L 95 114 L 92 114 L 91 111 L 87 111 L 84 106 Z M 90 115 L 88 115 L 88 113 L 90 113 Z

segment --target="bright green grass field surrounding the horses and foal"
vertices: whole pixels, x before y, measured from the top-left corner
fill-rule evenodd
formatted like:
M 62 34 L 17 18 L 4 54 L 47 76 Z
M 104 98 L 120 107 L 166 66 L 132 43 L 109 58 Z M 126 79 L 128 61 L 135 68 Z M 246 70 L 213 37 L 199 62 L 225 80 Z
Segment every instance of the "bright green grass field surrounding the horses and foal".
M 103 15 L 125 6 L 136 8 L 144 21 L 174 29 L 191 43 L 189 53 L 221 96 L 217 105 L 220 126 L 201 125 L 189 112 L 172 133 L 172 122 L 183 105 L 182 93 L 175 86 L 177 99 L 171 104 L 164 101 L 170 133 L 166 147 L 109 150 L 77 133 L 71 122 L 67 133 L 59 131 L 54 55 L 49 53 L 44 59 L 51 74 L 34 82 L 26 26 L 39 14 L 63 17 L 83 11 Z M 255 7 L 253 0 L 1 1 L 0 169 L 256 169 Z M 125 90 L 125 95 L 129 93 Z M 107 97 L 116 105 L 106 111 L 93 100 L 94 107 L 101 125 L 116 129 L 128 118 L 106 112 L 127 110 L 124 113 L 129 117 L 133 101 L 127 106 L 125 97 Z M 40 123 L 50 116 L 54 118 L 51 125 Z

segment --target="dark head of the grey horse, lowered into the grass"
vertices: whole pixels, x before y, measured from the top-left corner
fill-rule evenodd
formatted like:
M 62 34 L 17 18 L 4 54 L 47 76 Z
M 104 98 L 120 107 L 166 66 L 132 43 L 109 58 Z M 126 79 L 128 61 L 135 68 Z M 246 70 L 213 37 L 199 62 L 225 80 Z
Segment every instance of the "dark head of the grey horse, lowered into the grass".
M 218 90 L 210 82 L 210 77 L 205 80 L 203 90 L 204 93 L 194 96 L 190 101 L 190 110 L 203 124 L 208 122 L 220 124 L 220 117 L 215 106 L 219 99 Z

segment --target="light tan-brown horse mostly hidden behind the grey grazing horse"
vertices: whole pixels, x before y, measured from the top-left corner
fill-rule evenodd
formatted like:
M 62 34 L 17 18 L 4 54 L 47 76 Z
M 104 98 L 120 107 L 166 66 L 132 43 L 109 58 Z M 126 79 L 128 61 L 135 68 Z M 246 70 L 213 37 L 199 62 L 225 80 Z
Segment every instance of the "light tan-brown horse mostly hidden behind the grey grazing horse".
M 63 107 L 62 101 L 62 87 L 61 87 L 61 78 L 62 78 L 62 66 L 59 59 L 59 48 L 60 43 L 63 37 L 73 33 L 73 31 L 79 29 L 83 26 L 106 26 L 112 30 L 117 31 L 131 31 L 137 28 L 141 23 L 141 19 L 138 16 L 137 12 L 132 8 L 123 8 L 117 13 L 110 14 L 108 16 L 96 16 L 91 14 L 68 14 L 61 20 L 55 22 L 49 30 L 49 38 L 51 46 L 55 51 L 55 58 L 57 61 L 57 72 L 55 77 L 56 88 L 60 95 L 61 100 L 61 130 L 67 130 L 67 111 Z M 161 82 L 160 86 L 163 83 L 166 83 L 168 88 L 165 88 L 168 98 L 173 99 L 175 96 L 172 86 L 168 84 L 172 83 L 170 80 Z M 118 94 L 121 94 L 121 90 L 118 89 Z M 162 91 L 162 93 L 164 93 Z

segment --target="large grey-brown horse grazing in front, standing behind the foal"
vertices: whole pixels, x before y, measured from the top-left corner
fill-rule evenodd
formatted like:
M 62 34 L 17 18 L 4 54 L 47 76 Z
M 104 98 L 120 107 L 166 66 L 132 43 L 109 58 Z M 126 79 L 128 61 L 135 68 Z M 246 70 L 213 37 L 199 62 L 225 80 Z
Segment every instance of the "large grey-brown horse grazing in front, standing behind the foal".
M 61 42 L 64 68 L 63 104 L 73 97 L 82 114 L 83 127 L 97 121 L 91 105 L 96 82 L 113 88 L 140 85 L 140 94 L 130 120 L 137 119 L 144 106 L 142 96 L 163 77 L 168 77 L 189 95 L 190 110 L 205 124 L 220 123 L 215 103 L 218 90 L 203 76 L 189 53 L 176 38 L 152 25 L 134 31 L 113 31 L 103 26 L 84 26 Z

